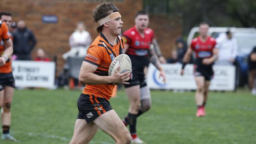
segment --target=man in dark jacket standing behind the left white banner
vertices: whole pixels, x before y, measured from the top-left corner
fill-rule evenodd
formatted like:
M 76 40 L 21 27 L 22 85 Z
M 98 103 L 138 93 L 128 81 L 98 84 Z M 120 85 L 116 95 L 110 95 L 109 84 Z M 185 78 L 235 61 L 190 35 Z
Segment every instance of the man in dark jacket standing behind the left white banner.
M 13 54 L 17 55 L 17 60 L 31 60 L 31 52 L 36 44 L 35 36 L 26 28 L 24 20 L 19 20 L 17 27 L 13 33 Z

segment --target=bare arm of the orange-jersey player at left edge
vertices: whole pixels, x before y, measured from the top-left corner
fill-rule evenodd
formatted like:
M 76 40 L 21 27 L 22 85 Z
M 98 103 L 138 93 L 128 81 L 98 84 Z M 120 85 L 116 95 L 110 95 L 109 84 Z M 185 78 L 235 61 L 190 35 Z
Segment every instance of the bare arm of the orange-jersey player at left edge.
M 9 59 L 11 54 L 13 54 L 13 44 L 11 42 L 11 39 L 8 39 L 7 41 L 3 41 L 4 45 L 6 46 L 6 50 L 4 51 L 4 54 L 2 57 L 0 57 L 0 65 L 4 65 L 6 61 Z

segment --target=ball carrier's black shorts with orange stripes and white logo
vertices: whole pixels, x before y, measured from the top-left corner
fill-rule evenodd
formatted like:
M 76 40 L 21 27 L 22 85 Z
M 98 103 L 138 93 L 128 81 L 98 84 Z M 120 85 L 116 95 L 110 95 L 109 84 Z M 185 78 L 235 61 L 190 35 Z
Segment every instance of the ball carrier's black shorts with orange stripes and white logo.
M 99 98 L 93 94 L 83 93 L 78 98 L 77 107 L 77 119 L 85 119 L 87 123 L 112 109 L 109 101 L 105 98 Z

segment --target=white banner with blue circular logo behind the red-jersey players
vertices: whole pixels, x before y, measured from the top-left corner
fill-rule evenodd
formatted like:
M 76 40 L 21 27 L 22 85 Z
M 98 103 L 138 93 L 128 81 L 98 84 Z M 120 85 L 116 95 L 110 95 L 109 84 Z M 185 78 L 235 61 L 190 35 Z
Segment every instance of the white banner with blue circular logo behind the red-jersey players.
M 147 85 L 150 89 L 197 89 L 194 65 L 187 64 L 183 76 L 180 75 L 181 64 L 162 64 L 161 66 L 166 75 L 166 83 L 163 83 L 163 79 L 159 78 L 159 71 L 155 66 L 150 64 L 147 73 Z M 209 89 L 234 90 L 235 70 L 233 65 L 213 65 L 214 76 Z

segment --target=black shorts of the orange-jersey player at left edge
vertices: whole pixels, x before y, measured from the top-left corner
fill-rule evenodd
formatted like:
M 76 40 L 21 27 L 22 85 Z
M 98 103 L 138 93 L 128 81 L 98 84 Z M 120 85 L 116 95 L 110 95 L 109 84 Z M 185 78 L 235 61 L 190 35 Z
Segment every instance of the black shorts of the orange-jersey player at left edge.
M 12 72 L 7 74 L 0 73 L 0 90 L 3 90 L 5 86 L 15 87 Z

